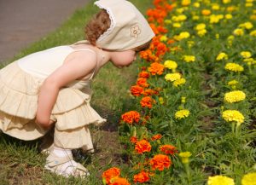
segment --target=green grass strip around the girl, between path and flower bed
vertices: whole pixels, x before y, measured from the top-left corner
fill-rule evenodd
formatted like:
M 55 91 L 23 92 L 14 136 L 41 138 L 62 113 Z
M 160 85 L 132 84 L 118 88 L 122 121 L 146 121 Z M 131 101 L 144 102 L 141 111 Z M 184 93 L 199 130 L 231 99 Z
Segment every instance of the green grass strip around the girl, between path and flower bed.
M 143 13 L 152 4 L 151 0 L 131 0 L 131 2 Z M 39 50 L 84 39 L 84 24 L 97 11 L 96 6 L 92 4 L 88 3 L 84 9 L 77 10 L 55 32 L 32 43 L 5 63 L 8 64 Z M 96 153 L 76 155 L 76 159 L 90 171 L 91 175 L 87 179 L 67 179 L 44 171 L 45 156 L 38 152 L 39 140 L 22 142 L 0 134 L 1 184 L 102 184 L 102 171 L 109 166 L 122 163 L 117 125 L 120 114 L 132 107 L 129 88 L 136 80 L 136 75 L 136 64 L 121 70 L 108 64 L 102 68 L 94 80 L 91 105 L 102 117 L 108 119 L 108 123 L 100 129 L 91 128 Z

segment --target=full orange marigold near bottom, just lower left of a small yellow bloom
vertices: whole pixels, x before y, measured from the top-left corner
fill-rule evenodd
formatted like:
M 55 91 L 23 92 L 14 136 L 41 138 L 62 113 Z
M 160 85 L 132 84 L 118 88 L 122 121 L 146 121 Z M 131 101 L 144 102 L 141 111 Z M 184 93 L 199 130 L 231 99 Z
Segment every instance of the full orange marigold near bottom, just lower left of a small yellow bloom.
M 165 168 L 169 168 L 172 165 L 172 161 L 169 156 L 164 154 L 154 155 L 153 159 L 149 160 L 149 164 L 152 166 L 152 169 L 163 171 Z

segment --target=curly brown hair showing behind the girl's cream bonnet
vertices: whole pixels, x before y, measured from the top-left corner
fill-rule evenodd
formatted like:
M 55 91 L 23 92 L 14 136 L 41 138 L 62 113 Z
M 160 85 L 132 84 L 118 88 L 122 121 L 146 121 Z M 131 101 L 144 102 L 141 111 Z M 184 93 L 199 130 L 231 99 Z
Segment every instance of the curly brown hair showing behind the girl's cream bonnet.
M 108 30 L 110 24 L 107 11 L 101 9 L 84 27 L 85 38 L 90 44 L 96 45 L 96 40 Z

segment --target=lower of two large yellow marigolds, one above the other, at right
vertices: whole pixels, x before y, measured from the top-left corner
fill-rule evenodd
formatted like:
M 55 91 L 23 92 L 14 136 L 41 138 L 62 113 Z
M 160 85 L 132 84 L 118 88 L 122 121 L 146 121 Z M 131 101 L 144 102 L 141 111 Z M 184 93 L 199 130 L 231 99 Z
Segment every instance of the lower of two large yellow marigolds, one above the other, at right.
M 244 122 L 243 115 L 236 110 L 226 110 L 222 113 L 222 118 L 226 122 L 236 122 L 237 125 L 240 125 Z

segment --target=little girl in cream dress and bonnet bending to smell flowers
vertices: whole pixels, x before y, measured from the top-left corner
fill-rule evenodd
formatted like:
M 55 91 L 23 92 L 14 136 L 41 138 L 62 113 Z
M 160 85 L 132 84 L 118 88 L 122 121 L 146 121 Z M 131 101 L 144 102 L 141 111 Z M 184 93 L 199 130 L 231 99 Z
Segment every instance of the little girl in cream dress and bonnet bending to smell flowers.
M 35 140 L 54 127 L 45 169 L 62 176 L 86 176 L 72 149 L 93 150 L 89 124 L 102 124 L 90 107 L 90 81 L 108 61 L 129 66 L 147 49 L 154 32 L 125 0 L 99 0 L 101 11 L 85 27 L 88 41 L 27 55 L 0 71 L 0 130 Z

